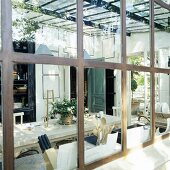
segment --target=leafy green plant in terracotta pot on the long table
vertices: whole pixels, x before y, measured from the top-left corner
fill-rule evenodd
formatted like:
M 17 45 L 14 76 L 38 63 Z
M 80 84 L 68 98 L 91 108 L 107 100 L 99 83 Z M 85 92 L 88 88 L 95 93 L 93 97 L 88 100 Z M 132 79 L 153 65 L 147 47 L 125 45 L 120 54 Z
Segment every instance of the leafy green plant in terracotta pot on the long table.
M 77 101 L 76 99 L 66 99 L 62 101 L 56 100 L 51 103 L 50 116 L 55 117 L 57 114 L 60 115 L 60 124 L 69 125 L 73 121 L 73 116 L 77 113 Z

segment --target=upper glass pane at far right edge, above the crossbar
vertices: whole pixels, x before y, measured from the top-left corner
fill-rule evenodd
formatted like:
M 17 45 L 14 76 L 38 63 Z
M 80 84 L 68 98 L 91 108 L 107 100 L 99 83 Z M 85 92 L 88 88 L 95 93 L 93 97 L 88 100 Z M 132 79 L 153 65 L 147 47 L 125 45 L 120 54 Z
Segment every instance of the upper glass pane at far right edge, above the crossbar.
M 170 12 L 155 4 L 155 67 L 170 67 Z

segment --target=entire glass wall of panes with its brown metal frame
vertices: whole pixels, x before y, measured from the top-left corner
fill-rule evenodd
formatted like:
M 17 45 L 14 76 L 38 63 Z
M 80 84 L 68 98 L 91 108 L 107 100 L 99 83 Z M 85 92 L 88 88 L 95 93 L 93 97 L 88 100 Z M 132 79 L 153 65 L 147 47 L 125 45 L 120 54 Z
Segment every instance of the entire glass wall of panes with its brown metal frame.
M 10 1 L 6 2 L 2 9 L 10 5 Z M 64 170 L 83 169 L 84 164 L 91 168 L 95 165 L 89 165 L 91 163 L 127 155 L 129 149 L 150 139 L 151 143 L 145 144 L 152 144 L 151 132 L 155 129 L 157 136 L 167 134 L 170 16 L 167 9 L 154 4 L 155 39 L 151 37 L 149 7 L 152 2 L 12 0 L 13 42 L 10 43 L 14 51 L 22 55 L 5 51 L 1 57 L 7 75 L 1 85 L 9 94 L 6 97 L 3 91 L 1 93 L 1 99 L 5 96 L 5 105 L 1 104 L 0 120 L 2 122 L 5 108 L 4 115 L 10 124 L 4 125 L 14 127 L 12 131 L 8 129 L 10 126 L 4 126 L 4 134 L 13 132 L 14 136 L 14 146 L 10 146 L 13 138 L 9 138 L 4 148 L 5 169 L 56 169 L 56 166 Z M 124 3 L 126 11 L 123 11 Z M 81 17 L 83 13 L 78 19 L 77 6 L 80 7 L 78 15 Z M 125 12 L 125 18 L 121 17 Z M 121 19 L 126 20 L 126 43 L 121 42 L 125 40 L 121 37 L 124 36 Z M 83 40 L 82 35 L 77 35 L 78 31 L 83 31 Z M 155 40 L 155 56 L 153 49 L 150 52 L 150 47 L 154 46 L 150 40 Z M 78 54 L 84 53 L 84 60 L 77 57 L 77 49 Z M 44 54 L 43 57 L 40 54 Z M 6 55 L 9 57 L 4 57 Z M 151 67 L 152 58 L 155 64 Z M 121 63 L 122 59 L 127 62 Z M 10 66 L 13 67 L 13 86 L 9 87 L 3 80 L 10 82 Z M 78 77 L 84 81 L 80 82 Z M 155 89 L 152 89 L 152 82 Z M 84 95 L 83 91 L 78 91 L 82 85 Z M 155 103 L 152 103 L 152 96 L 155 96 Z M 7 100 L 13 101 L 13 108 Z M 122 106 L 122 103 L 127 105 Z M 153 104 L 155 113 L 152 113 Z M 156 127 L 151 126 L 154 114 Z M 77 128 L 83 127 L 80 122 L 84 123 L 84 129 Z M 123 122 L 127 123 L 127 133 Z M 2 125 L 0 128 L 2 130 Z M 126 136 L 127 145 L 123 138 Z M 0 155 L 3 160 L 2 137 Z M 80 144 L 77 145 L 77 141 Z

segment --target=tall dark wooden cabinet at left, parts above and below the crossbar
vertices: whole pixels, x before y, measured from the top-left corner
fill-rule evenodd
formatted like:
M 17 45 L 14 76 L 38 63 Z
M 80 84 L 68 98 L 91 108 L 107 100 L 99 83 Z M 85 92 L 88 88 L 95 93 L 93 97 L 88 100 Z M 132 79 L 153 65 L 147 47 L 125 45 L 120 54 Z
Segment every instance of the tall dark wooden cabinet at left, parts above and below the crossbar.
M 15 52 L 34 53 L 34 42 L 13 42 Z M 36 121 L 35 65 L 14 65 L 14 113 L 24 112 L 24 122 Z

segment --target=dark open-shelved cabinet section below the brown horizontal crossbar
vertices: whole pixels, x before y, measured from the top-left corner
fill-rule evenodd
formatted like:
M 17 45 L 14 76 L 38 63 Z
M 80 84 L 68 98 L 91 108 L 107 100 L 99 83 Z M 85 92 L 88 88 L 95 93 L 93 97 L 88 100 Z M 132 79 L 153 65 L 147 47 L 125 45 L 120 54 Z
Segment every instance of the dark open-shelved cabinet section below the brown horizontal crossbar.
M 24 112 L 24 122 L 36 121 L 35 65 L 17 64 L 14 76 L 14 113 Z M 22 73 L 19 70 L 24 70 Z

